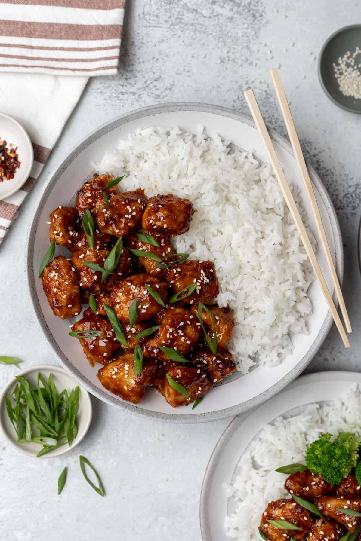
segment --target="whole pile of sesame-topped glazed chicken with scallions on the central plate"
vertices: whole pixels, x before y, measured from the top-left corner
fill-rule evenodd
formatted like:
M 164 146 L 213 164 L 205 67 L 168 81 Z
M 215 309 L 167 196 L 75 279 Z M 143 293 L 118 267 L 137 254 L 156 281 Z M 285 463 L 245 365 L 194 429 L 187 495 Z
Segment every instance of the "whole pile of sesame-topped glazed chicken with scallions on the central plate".
M 103 365 L 108 391 L 137 404 L 155 387 L 172 407 L 196 405 L 237 368 L 226 348 L 234 318 L 215 304 L 213 262 L 187 260 L 172 245 L 191 225 L 192 202 L 121 193 L 121 178 L 95 174 L 75 208 L 51 213 L 50 240 L 72 253 L 45 256 L 43 288 L 62 319 L 89 304 L 70 334 L 92 366 Z

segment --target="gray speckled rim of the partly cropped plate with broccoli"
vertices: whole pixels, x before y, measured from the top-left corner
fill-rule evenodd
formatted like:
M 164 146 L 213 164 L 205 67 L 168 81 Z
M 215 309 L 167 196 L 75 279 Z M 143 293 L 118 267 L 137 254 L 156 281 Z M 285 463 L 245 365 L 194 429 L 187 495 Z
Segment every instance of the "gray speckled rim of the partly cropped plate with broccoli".
M 352 382 L 356 381 L 356 382 L 361 383 L 360 377 L 361 377 L 361 374 L 359 374 L 358 372 L 345 372 L 341 370 L 314 372 L 313 374 L 301 375 L 299 378 L 297 378 L 297 380 L 293 381 L 288 386 L 288 389 L 292 389 L 293 387 L 298 387 L 299 385 L 310 384 L 315 381 L 316 382 L 324 381 L 325 379 L 327 381 L 346 380 L 346 381 L 352 381 Z M 313 402 L 317 402 L 317 400 L 310 400 L 310 404 Z M 218 463 L 218 460 L 222 452 L 224 451 L 226 445 L 228 444 L 228 441 L 232 438 L 235 431 L 238 430 L 239 426 L 253 413 L 253 411 L 254 411 L 254 408 L 252 409 L 252 411 L 247 412 L 248 413 L 247 415 L 237 415 L 234 419 L 232 419 L 231 423 L 229 423 L 229 425 L 225 428 L 224 432 L 219 437 L 217 443 L 214 446 L 211 457 L 208 460 L 208 464 L 207 464 L 203 482 L 202 482 L 200 502 L 199 502 L 199 520 L 200 520 L 202 541 L 215 541 L 212 538 L 212 534 L 209 529 L 209 523 L 207 520 L 209 496 L 211 494 L 211 486 L 212 486 L 214 470 L 216 468 L 216 465 Z M 226 481 L 227 480 L 225 479 L 225 483 Z

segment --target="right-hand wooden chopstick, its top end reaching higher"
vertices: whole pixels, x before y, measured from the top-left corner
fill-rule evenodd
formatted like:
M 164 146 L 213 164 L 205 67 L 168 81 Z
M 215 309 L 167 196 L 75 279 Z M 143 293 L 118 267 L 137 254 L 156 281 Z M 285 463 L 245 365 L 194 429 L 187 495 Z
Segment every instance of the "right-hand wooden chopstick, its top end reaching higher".
M 347 314 L 346 305 L 345 305 L 345 301 L 344 301 L 344 298 L 343 298 L 341 287 L 340 287 L 340 284 L 339 284 L 339 281 L 338 281 L 336 269 L 334 268 L 334 265 L 333 265 L 333 259 L 332 259 L 332 255 L 331 255 L 331 250 L 330 250 L 329 242 L 327 241 L 327 236 L 326 236 L 325 228 L 324 228 L 324 225 L 323 225 L 323 222 L 322 222 L 321 213 L 320 213 L 320 210 L 318 208 L 316 196 L 314 195 L 312 183 L 311 183 L 310 176 L 309 176 L 309 171 L 307 171 L 306 162 L 305 162 L 302 150 L 301 150 L 301 145 L 300 145 L 300 142 L 299 142 L 299 139 L 298 139 L 298 136 L 297 136 L 296 127 L 294 126 L 290 106 L 288 105 L 285 90 L 284 90 L 283 85 L 281 83 L 280 76 L 278 74 L 277 69 L 275 69 L 275 68 L 271 69 L 271 77 L 272 77 L 275 93 L 277 95 L 278 103 L 279 103 L 279 106 L 280 106 L 280 109 L 282 111 L 283 118 L 284 118 L 284 121 L 285 121 L 285 124 L 286 124 L 288 137 L 290 137 L 294 157 L 296 158 L 298 168 L 299 168 L 300 173 L 301 173 L 301 177 L 302 177 L 303 182 L 305 184 L 307 195 L 309 196 L 312 212 L 313 212 L 314 218 L 316 220 L 316 226 L 317 226 L 318 233 L 319 233 L 320 239 L 321 239 L 321 245 L 322 245 L 322 247 L 324 249 L 324 252 L 325 252 L 327 265 L 329 266 L 329 269 L 330 269 L 334 289 L 336 291 L 337 299 L 338 299 L 340 309 L 341 309 L 341 312 L 342 312 L 342 315 L 343 315 L 343 318 L 344 318 L 346 331 L 348 333 L 351 333 L 352 332 L 352 327 L 351 327 L 351 324 L 350 324 L 349 314 Z

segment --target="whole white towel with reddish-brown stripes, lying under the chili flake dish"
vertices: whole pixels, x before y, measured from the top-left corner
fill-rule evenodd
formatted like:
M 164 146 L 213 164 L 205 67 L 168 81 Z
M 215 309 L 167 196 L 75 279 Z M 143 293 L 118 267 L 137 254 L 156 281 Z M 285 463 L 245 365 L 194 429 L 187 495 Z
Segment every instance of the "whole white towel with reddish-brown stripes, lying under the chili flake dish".
M 0 242 L 88 77 L 117 72 L 123 15 L 124 0 L 0 0 L 0 111 L 24 126 L 34 147 L 28 181 L 0 201 Z

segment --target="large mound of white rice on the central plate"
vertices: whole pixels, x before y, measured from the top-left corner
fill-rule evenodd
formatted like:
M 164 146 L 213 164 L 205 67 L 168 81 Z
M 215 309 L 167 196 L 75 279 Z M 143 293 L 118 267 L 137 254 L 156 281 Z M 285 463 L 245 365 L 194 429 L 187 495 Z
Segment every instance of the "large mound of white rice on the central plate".
M 255 364 L 279 364 L 292 351 L 289 334 L 308 334 L 313 275 L 267 164 L 230 150 L 229 141 L 207 137 L 200 127 L 196 135 L 179 128 L 139 130 L 95 167 L 100 174 L 125 174 L 123 190 L 143 188 L 147 196 L 173 193 L 192 201 L 191 228 L 173 242 L 191 259 L 214 262 L 217 302 L 234 311 L 229 349 L 242 373 Z

